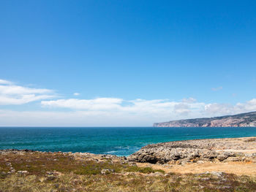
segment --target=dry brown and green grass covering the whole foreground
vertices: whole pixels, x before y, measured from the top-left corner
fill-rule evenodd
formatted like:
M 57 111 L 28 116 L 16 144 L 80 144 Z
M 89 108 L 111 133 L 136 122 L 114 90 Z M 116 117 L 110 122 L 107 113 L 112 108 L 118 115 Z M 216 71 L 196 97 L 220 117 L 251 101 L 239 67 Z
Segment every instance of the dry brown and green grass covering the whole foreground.
M 256 191 L 255 177 L 235 174 L 149 174 L 148 167 L 129 166 L 106 160 L 78 161 L 62 153 L 0 155 L 0 172 L 18 172 L 0 178 L 0 191 Z M 102 169 L 113 169 L 101 174 Z M 54 172 L 54 174 L 49 174 Z M 129 172 L 129 174 L 127 174 Z

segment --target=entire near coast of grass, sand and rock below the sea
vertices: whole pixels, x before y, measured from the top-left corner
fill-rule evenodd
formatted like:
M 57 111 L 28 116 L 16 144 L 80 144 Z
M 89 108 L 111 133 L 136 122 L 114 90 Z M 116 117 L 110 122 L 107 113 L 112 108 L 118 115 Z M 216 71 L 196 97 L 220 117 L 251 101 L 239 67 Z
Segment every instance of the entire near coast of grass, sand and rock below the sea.
M 0 150 L 0 191 L 256 191 L 255 150 L 256 137 L 157 143 L 128 157 Z

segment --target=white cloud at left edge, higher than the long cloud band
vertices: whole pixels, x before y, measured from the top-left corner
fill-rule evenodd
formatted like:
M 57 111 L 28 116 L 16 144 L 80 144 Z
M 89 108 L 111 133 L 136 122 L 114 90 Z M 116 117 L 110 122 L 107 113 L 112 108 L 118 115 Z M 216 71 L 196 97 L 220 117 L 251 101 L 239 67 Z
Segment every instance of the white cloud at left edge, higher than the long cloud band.
M 53 98 L 53 91 L 41 88 L 28 88 L 0 80 L 0 105 L 26 104 L 31 101 Z

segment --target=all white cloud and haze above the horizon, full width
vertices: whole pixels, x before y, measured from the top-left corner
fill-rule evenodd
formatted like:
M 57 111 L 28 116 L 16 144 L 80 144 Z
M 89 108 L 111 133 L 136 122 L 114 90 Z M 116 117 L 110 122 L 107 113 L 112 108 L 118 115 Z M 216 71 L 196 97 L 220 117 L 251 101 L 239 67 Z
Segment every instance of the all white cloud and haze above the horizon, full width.
M 29 88 L 0 80 L 0 105 L 40 101 L 44 107 L 39 111 L 0 110 L 0 126 L 151 126 L 154 122 L 256 111 L 256 99 L 219 104 L 193 98 L 180 101 L 105 97 L 53 99 L 54 95 L 49 89 Z

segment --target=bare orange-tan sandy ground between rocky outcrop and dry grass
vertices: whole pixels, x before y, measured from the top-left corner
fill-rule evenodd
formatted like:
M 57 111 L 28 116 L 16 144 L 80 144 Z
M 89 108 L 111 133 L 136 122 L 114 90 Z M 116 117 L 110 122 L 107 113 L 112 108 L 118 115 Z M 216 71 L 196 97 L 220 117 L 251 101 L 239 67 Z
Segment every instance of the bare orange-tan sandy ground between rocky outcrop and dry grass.
M 137 163 L 138 166 L 151 166 L 153 169 L 162 169 L 166 173 L 175 172 L 185 173 L 203 173 L 203 172 L 225 172 L 238 175 L 256 176 L 256 164 L 252 162 L 227 162 L 227 163 L 211 163 L 203 164 L 187 164 L 187 165 L 162 165 L 162 164 L 145 164 Z

